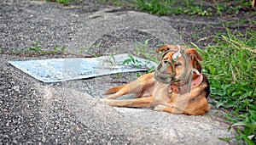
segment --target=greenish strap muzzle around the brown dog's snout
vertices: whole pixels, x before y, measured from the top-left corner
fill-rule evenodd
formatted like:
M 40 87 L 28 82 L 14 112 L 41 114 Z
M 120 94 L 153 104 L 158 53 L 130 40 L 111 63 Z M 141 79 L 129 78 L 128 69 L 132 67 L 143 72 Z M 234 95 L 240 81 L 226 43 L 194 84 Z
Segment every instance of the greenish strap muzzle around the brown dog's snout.
M 156 70 L 154 71 L 154 79 L 156 81 L 160 81 L 165 84 L 171 84 L 172 82 L 182 81 L 183 79 L 186 78 L 186 72 L 188 71 L 189 60 L 187 59 L 183 51 L 184 49 L 178 49 L 178 50 L 171 49 L 166 51 L 166 53 L 163 53 L 163 55 L 161 56 L 160 64 L 158 64 Z M 163 58 L 165 57 L 165 55 L 170 52 L 176 52 L 176 53 L 173 53 L 172 59 L 164 60 Z M 186 69 L 181 79 L 175 79 L 175 76 L 177 75 L 175 70 L 175 63 L 177 64 L 177 59 L 180 57 L 183 57 L 185 59 Z M 172 67 L 172 73 L 168 72 L 168 67 L 170 66 Z

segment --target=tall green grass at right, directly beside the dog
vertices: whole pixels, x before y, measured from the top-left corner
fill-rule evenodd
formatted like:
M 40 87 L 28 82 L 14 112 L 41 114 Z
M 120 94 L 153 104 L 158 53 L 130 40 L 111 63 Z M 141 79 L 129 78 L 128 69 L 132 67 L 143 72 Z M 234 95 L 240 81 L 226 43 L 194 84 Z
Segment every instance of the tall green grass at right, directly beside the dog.
M 236 34 L 235 34 L 236 33 Z M 226 119 L 247 144 L 256 143 L 256 31 L 216 35 L 217 45 L 201 51 L 211 85 L 212 104 L 227 111 Z M 238 129 L 236 126 L 243 126 Z

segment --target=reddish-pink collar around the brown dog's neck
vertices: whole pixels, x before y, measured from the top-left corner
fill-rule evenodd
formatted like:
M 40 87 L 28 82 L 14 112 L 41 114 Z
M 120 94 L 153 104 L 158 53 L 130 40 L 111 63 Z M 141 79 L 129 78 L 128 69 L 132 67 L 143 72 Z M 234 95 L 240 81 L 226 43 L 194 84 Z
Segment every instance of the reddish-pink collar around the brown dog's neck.
M 195 88 L 196 86 L 201 85 L 201 82 L 203 81 L 203 75 L 198 75 L 195 80 L 191 81 L 191 84 L 189 83 L 184 84 L 183 86 L 175 86 L 173 83 L 170 85 L 170 91 L 179 93 L 179 94 L 184 94 L 186 92 L 189 92 L 189 86 L 191 89 Z

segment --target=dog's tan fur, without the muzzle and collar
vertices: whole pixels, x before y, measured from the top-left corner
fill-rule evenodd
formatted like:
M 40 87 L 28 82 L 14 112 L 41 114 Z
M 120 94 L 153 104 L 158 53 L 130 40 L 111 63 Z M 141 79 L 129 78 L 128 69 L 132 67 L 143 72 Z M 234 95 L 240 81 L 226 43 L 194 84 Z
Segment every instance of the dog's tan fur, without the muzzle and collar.
M 177 46 L 164 45 L 156 49 L 156 52 L 166 52 L 169 49 L 177 49 Z M 181 46 L 181 48 L 185 48 Z M 174 52 L 168 52 L 163 59 L 172 59 Z M 189 72 L 195 66 L 195 69 L 201 72 L 201 64 L 198 60 L 202 60 L 199 53 L 194 48 L 186 49 L 184 51 L 189 56 Z M 177 59 L 181 64 L 184 63 L 183 58 Z M 179 78 L 183 73 L 185 67 L 183 65 L 176 67 L 177 75 L 175 78 Z M 172 67 L 168 68 L 167 71 L 172 73 Z M 197 75 L 193 74 L 193 79 Z M 187 83 L 188 80 L 180 81 L 175 85 L 182 86 Z M 207 77 L 203 76 L 201 85 L 193 88 L 191 92 L 179 94 L 170 92 L 170 86 L 168 84 L 160 83 L 154 80 L 154 73 L 140 76 L 136 81 L 131 81 L 123 86 L 115 86 L 106 91 L 106 94 L 113 93 L 107 98 L 102 98 L 102 101 L 108 103 L 110 106 L 116 107 L 134 107 L 134 108 L 147 108 L 153 107 L 154 110 L 165 111 L 172 114 L 192 114 L 201 115 L 205 114 L 211 107 L 208 105 L 207 96 L 209 94 L 209 83 Z M 137 98 L 117 100 L 125 94 L 135 94 Z

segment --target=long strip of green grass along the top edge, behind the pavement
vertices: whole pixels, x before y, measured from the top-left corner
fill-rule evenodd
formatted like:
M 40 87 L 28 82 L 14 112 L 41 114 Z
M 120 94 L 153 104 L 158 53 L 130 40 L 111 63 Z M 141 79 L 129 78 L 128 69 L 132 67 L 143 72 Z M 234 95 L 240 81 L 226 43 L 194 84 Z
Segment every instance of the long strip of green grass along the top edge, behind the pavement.
M 206 0 L 195 3 L 194 0 L 100 0 L 101 3 L 135 8 L 149 14 L 172 15 L 172 14 L 189 14 L 211 16 L 212 14 L 223 15 L 237 14 L 243 8 L 251 8 L 251 2 L 242 1 L 218 1 L 213 0 L 212 6 L 205 6 Z M 207 1 L 209 2 L 209 1 Z

